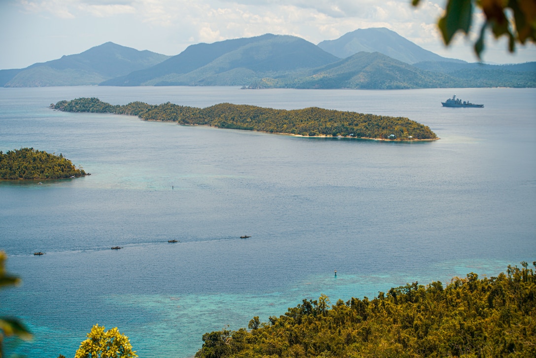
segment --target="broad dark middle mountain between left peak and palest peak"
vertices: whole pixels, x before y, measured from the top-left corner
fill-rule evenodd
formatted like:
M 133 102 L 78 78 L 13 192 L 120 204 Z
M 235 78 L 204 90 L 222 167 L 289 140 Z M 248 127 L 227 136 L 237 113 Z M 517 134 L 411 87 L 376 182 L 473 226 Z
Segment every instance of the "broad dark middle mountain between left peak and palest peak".
M 288 75 L 337 60 L 301 38 L 265 34 L 192 45 L 152 68 L 101 85 L 244 85 L 266 76 Z

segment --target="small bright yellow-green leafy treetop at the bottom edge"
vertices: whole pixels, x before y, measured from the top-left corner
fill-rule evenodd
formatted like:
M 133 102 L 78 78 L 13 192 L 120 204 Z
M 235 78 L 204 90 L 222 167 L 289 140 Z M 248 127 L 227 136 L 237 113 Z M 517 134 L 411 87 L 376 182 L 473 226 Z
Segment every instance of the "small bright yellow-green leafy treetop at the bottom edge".
M 75 358 L 134 358 L 129 338 L 121 334 L 117 327 L 105 331 L 104 326 L 94 325 L 87 339 L 80 344 Z

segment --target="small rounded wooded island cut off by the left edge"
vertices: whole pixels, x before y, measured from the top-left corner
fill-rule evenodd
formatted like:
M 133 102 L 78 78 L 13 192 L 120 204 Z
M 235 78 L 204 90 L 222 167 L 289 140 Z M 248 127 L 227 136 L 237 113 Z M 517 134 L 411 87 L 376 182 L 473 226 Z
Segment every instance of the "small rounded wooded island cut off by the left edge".
M 0 179 L 60 179 L 90 175 L 62 154 L 33 148 L 0 151 Z

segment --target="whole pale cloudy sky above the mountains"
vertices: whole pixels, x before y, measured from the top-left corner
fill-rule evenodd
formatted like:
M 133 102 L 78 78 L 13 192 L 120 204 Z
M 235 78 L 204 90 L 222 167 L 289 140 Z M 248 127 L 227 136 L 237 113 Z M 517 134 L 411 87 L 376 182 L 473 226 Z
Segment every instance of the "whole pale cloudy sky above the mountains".
M 0 69 L 24 68 L 83 52 L 107 41 L 176 55 L 189 45 L 264 33 L 300 36 L 312 43 L 358 28 L 387 27 L 417 45 L 469 62 L 470 39 L 449 48 L 436 30 L 445 0 L 0 0 Z M 477 17 L 477 20 L 481 17 Z M 479 25 L 473 26 L 477 32 Z M 488 39 L 490 63 L 536 61 L 536 46 L 507 51 Z

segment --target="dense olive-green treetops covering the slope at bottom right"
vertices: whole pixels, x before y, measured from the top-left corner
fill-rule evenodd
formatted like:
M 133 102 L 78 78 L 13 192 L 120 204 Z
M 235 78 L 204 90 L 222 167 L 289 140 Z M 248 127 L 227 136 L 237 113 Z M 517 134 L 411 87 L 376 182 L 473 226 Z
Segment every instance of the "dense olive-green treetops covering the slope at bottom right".
M 445 288 L 406 284 L 371 300 L 304 299 L 269 324 L 254 317 L 250 331 L 204 334 L 196 357 L 534 357 L 536 276 L 522 266 Z

